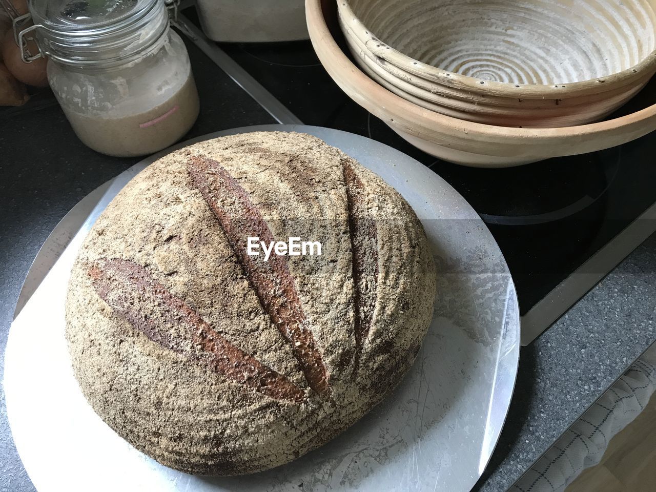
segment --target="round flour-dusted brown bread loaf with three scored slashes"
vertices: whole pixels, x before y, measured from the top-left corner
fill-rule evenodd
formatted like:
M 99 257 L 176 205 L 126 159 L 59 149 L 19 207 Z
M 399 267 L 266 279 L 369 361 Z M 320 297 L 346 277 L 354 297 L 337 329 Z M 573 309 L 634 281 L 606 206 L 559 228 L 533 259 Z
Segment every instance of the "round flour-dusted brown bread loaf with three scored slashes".
M 306 254 L 266 258 L 249 237 L 300 238 Z M 435 276 L 408 203 L 340 150 L 298 133 L 208 140 L 144 169 L 89 233 L 66 301 L 73 371 L 94 411 L 162 464 L 265 470 L 398 384 Z

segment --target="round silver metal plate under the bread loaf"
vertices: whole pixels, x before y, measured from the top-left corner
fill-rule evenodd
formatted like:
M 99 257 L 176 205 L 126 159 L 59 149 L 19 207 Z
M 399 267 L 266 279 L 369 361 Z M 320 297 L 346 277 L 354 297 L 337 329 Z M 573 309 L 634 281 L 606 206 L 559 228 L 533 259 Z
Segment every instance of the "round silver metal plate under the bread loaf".
M 169 149 L 120 174 L 100 199 L 96 196 L 96 206 L 10 329 L 7 413 L 18 452 L 40 492 L 464 492 L 482 474 L 506 417 L 520 348 L 515 289 L 493 237 L 461 195 L 430 169 L 363 136 L 264 125 L 209 134 L 176 148 L 262 130 L 322 138 L 382 176 L 415 209 L 438 264 L 439 285 L 436 314 L 413 369 L 389 398 L 335 440 L 285 466 L 249 476 L 182 474 L 110 430 L 83 398 L 70 367 L 64 340 L 68 275 L 79 245 L 106 205 Z

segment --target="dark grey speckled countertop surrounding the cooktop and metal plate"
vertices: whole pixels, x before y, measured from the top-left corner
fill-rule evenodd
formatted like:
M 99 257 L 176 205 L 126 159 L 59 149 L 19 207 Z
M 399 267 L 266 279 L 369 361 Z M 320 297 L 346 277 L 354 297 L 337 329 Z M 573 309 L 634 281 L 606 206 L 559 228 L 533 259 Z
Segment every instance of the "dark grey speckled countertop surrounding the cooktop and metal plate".
M 188 135 L 273 123 L 255 101 L 190 47 L 203 109 Z M 31 261 L 77 201 L 139 159 L 113 159 L 80 144 L 47 94 L 0 111 L 0 379 L 12 314 Z M 656 236 L 533 344 L 522 349 L 514 399 L 476 490 L 501 492 L 655 339 Z M 0 492 L 32 491 L 0 396 Z

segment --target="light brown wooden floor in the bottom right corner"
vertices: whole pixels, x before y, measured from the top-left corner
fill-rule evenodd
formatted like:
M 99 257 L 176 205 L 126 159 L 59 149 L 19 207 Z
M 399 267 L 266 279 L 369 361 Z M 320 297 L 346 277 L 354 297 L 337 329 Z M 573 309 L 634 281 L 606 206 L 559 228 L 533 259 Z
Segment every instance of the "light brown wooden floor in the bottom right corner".
M 565 492 L 656 490 L 656 394 L 638 418 L 611 439 L 602 461 L 584 470 Z

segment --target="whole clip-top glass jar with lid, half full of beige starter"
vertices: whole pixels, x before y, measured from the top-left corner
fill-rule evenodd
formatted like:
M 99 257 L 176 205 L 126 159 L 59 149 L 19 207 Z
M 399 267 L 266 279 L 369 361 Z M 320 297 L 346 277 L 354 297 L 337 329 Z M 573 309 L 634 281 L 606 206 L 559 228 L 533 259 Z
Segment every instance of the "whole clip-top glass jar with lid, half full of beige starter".
M 164 0 L 30 0 L 30 12 L 52 91 L 87 146 L 152 154 L 192 127 L 198 94 Z

